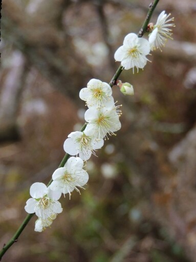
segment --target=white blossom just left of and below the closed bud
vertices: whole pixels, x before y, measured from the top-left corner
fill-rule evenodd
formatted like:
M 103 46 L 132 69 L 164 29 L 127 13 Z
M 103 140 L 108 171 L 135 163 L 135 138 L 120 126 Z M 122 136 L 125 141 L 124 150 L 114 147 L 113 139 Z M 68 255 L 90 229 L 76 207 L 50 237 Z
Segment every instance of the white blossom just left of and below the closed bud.
M 87 88 L 80 90 L 79 97 L 86 102 L 88 107 L 108 107 L 114 104 L 111 86 L 98 79 L 91 79 L 87 84 Z

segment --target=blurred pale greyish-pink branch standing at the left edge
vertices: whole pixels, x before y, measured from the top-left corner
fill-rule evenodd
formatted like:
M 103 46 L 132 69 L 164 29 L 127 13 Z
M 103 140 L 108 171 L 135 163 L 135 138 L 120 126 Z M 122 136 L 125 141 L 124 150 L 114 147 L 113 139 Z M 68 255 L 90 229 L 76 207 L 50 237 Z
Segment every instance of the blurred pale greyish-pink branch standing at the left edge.
M 16 116 L 28 74 L 25 58 L 20 52 L 15 51 L 10 60 L 12 67 L 0 97 L 0 141 L 19 139 Z

